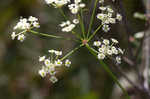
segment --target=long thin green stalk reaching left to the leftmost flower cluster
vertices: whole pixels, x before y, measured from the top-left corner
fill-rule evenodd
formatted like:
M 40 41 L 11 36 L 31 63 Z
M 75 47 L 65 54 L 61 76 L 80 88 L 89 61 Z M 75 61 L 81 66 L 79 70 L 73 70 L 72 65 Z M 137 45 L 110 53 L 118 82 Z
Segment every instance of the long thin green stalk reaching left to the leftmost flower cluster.
M 61 37 L 61 36 L 55 36 L 55 35 L 49 35 L 49 34 L 45 34 L 45 33 L 40 33 L 40 32 L 36 32 L 36 31 L 33 31 L 33 30 L 29 30 L 29 32 L 32 33 L 32 34 L 35 34 L 35 35 L 41 35 L 41 36 L 50 37 L 50 38 L 64 39 L 64 40 L 70 40 L 70 41 L 73 40 L 73 39 L 64 38 L 64 37 Z M 78 40 L 73 40 L 73 41 L 80 42 Z

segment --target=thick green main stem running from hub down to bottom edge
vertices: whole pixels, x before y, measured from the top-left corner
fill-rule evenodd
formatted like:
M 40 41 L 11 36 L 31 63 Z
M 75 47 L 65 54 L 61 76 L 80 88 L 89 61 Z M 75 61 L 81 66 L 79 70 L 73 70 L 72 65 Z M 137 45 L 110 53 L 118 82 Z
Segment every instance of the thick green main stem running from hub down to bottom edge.
M 91 48 L 88 44 L 86 44 L 87 49 L 97 58 L 97 53 L 93 48 Z M 97 58 L 98 59 L 98 58 Z M 108 68 L 108 66 L 102 61 L 99 60 L 101 66 L 104 68 L 104 70 L 111 76 L 111 78 L 114 80 L 115 83 L 121 88 L 121 90 L 126 95 L 127 99 L 130 99 L 130 96 L 128 95 L 128 92 L 123 88 L 123 86 L 119 83 L 117 77 L 113 74 L 113 72 Z

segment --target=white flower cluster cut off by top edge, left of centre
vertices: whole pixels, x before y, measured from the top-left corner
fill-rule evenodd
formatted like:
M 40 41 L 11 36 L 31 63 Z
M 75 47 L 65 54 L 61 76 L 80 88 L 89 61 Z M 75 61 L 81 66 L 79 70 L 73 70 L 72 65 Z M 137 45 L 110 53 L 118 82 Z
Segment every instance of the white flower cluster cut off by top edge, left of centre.
M 46 4 L 51 4 L 54 7 L 58 8 L 63 5 L 66 5 L 70 2 L 70 0 L 45 0 Z

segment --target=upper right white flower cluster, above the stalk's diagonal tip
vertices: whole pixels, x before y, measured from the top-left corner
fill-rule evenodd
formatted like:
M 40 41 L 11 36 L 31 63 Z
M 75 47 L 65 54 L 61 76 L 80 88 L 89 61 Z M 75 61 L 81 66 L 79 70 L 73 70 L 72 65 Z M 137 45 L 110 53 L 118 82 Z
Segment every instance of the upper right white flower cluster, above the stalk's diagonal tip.
M 101 6 L 99 9 L 101 10 L 101 13 L 97 14 L 97 18 L 102 21 L 102 29 L 104 32 L 108 32 L 110 30 L 109 24 L 115 24 L 116 20 L 122 20 L 122 16 L 119 13 L 117 13 L 115 18 L 113 17 L 114 10 L 109 6 Z

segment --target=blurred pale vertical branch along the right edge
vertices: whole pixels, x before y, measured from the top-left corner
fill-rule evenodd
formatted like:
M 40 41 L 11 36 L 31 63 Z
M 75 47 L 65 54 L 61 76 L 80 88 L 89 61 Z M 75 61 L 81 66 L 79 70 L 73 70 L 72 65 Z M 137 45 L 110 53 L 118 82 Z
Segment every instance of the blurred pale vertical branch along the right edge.
M 145 32 L 143 39 L 143 49 L 142 49 L 142 64 L 140 67 L 141 75 L 143 77 L 143 87 L 149 91 L 149 66 L 150 66 L 150 0 L 146 0 L 146 16 L 148 29 Z M 149 91 L 150 92 L 150 91 Z

